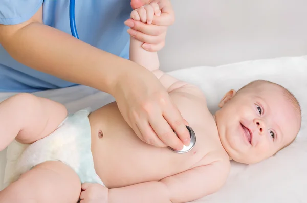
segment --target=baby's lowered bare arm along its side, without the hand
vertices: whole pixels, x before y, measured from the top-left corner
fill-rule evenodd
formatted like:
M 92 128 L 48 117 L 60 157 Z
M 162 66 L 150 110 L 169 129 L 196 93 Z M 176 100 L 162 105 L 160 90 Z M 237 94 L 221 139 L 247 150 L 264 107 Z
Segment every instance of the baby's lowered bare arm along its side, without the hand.
M 229 162 L 216 161 L 166 177 L 161 181 L 109 189 L 108 203 L 190 202 L 220 189 L 226 181 L 229 168 Z

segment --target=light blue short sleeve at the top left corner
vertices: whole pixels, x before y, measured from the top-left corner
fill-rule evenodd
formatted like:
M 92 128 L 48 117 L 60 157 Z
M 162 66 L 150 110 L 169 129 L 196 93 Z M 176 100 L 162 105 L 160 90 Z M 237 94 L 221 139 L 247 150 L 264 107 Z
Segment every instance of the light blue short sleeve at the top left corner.
M 0 0 L 0 24 L 14 25 L 29 20 L 43 0 Z

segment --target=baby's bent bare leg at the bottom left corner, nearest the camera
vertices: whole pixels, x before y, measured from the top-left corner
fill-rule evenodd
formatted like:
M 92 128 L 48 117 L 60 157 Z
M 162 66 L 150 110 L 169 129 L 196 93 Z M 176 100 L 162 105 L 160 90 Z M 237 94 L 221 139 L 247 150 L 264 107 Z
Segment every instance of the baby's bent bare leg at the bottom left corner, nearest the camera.
M 80 192 L 81 183 L 75 171 L 59 161 L 48 161 L 0 191 L 0 202 L 76 203 Z

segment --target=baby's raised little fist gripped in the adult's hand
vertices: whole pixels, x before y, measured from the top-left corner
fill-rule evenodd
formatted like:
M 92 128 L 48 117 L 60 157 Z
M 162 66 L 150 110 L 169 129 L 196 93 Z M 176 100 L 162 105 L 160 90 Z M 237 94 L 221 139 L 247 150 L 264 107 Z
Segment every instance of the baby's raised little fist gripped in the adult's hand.
M 147 24 L 151 24 L 153 16 L 161 15 L 161 10 L 157 3 L 150 3 L 135 9 L 131 12 L 130 17 L 136 21 L 141 21 Z

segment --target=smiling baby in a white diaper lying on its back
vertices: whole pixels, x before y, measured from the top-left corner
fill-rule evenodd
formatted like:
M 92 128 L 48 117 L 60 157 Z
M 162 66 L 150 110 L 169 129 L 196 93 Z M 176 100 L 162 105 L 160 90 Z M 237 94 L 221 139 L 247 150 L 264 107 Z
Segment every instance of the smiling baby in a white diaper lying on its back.
M 131 17 L 146 21 L 156 7 Z M 0 103 L 0 150 L 14 139 L 30 145 L 18 160 L 19 178 L 0 191 L 0 202 L 189 202 L 224 185 L 230 160 L 257 163 L 295 139 L 301 111 L 287 89 L 251 82 L 227 92 L 212 115 L 201 89 L 163 73 L 157 53 L 141 46 L 131 38 L 130 60 L 165 86 L 196 134 L 194 148 L 179 154 L 141 141 L 116 102 L 67 116 L 60 103 L 18 94 Z

